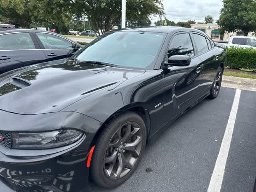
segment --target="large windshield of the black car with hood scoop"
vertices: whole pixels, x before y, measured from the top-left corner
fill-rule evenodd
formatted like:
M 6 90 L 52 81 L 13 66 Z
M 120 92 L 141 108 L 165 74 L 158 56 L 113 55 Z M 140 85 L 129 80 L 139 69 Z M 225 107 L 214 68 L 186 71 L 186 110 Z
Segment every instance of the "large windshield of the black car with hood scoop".
M 147 68 L 158 56 L 166 34 L 120 31 L 110 32 L 87 46 L 76 59 L 98 61 L 128 68 Z

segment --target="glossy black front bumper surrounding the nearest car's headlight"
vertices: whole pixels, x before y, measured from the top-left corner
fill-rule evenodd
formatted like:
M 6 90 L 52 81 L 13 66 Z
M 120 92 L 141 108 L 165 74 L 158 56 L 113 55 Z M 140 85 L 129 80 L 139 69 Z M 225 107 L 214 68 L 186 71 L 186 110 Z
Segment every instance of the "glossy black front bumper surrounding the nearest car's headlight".
M 42 132 L 60 127 L 84 132 L 76 143 L 59 148 L 17 150 L 0 145 L 1 190 L 6 186 L 16 192 L 87 191 L 88 152 L 101 122 L 76 112 L 20 115 L 2 110 L 0 122 L 0 130 L 5 132 Z

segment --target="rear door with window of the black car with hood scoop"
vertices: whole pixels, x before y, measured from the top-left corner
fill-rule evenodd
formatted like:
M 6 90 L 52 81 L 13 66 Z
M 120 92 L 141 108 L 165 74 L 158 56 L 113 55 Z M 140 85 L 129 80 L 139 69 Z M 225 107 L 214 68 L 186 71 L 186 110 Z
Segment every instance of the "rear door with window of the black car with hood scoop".
M 219 53 L 215 49 L 214 44 L 212 40 L 210 40 L 210 38 L 194 32 L 192 33 L 192 37 L 194 40 L 194 44 L 196 45 L 198 56 L 201 60 L 201 74 L 198 78 L 198 91 L 204 94 L 206 91 L 209 90 L 210 86 L 214 81 L 216 70 L 219 66 Z

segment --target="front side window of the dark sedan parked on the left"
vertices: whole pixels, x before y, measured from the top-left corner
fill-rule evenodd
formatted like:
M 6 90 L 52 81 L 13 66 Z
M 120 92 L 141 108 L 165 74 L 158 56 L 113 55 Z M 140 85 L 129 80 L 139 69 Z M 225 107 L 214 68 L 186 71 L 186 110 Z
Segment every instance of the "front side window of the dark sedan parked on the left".
M 47 33 L 36 33 L 41 40 L 45 49 L 72 49 L 73 45 L 70 41 Z

